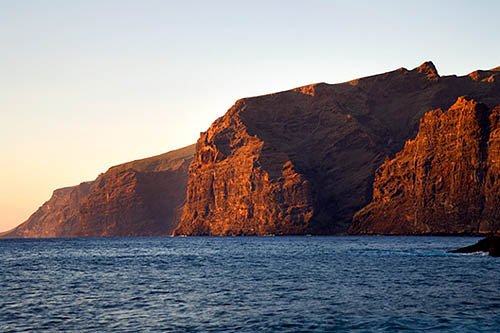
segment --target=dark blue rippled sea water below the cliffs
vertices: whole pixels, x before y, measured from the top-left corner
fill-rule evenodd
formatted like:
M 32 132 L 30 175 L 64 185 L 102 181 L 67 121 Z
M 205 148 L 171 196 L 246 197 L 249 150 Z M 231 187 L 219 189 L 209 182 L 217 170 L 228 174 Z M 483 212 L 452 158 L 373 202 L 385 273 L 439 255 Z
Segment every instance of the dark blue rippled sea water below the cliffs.
M 457 237 L 0 241 L 0 331 L 500 330 L 500 258 Z

